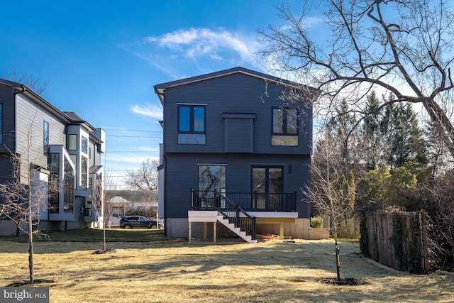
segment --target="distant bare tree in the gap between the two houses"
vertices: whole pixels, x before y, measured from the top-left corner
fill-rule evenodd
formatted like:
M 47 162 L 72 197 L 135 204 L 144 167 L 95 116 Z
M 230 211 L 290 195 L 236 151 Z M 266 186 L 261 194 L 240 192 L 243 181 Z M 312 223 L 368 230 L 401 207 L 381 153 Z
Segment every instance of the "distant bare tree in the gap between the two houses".
M 134 190 L 157 190 L 157 160 L 147 159 L 138 170 L 126 170 L 126 185 Z

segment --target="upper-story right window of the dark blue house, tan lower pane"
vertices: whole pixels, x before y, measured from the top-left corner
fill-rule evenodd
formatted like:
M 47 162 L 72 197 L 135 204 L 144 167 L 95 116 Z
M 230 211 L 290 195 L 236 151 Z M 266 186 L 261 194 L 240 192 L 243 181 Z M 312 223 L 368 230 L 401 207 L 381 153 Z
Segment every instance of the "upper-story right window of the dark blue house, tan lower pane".
M 271 145 L 298 146 L 298 110 L 272 109 Z

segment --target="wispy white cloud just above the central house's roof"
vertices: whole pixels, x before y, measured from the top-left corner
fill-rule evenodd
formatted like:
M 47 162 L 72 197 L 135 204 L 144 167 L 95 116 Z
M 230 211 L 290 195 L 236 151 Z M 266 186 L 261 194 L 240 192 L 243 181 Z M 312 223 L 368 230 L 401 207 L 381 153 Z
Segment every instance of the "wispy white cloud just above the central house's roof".
M 225 28 L 180 29 L 148 36 L 121 48 L 168 75 L 181 79 L 181 73 L 196 75 L 234 66 L 266 71 L 258 61 L 262 47 L 255 32 L 245 34 Z

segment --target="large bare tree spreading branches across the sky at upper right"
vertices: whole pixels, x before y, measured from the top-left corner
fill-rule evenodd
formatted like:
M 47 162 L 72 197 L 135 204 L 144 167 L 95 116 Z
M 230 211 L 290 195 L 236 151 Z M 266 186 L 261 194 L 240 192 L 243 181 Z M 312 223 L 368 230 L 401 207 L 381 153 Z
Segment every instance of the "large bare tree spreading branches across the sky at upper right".
M 315 6 L 303 1 L 302 13 L 282 4 L 277 9 L 285 24 L 259 31 L 267 43 L 261 53 L 274 70 L 314 87 L 320 94 L 319 110 L 325 113 L 341 99 L 361 112 L 360 103 L 373 89 L 394 94 L 377 110 L 402 101 L 422 104 L 454 156 L 454 127 L 449 119 L 454 11 L 449 4 L 447 0 L 333 0 Z M 314 9 L 324 11 L 323 29 L 311 27 Z M 321 32 L 325 41 L 319 40 Z M 292 94 L 287 98 L 295 99 Z

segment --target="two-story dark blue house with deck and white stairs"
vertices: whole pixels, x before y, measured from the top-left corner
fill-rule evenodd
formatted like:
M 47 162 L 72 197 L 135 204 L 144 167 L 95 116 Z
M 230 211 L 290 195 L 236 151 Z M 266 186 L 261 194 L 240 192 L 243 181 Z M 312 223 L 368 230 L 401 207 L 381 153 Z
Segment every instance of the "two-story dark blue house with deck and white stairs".
M 281 99 L 299 89 L 243 67 L 155 85 L 167 236 L 307 238 L 310 204 L 301 188 L 310 182 L 312 107 Z

